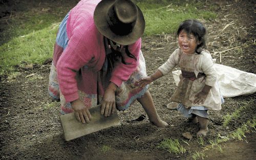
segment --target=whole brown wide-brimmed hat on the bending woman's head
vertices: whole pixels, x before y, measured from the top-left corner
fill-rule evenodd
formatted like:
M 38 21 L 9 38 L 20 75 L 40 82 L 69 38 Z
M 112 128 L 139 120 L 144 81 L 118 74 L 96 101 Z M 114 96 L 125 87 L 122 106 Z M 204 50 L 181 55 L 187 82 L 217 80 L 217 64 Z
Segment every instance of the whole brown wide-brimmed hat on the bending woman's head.
M 110 40 L 128 45 L 144 33 L 145 20 L 139 7 L 130 0 L 103 0 L 95 8 L 94 24 Z

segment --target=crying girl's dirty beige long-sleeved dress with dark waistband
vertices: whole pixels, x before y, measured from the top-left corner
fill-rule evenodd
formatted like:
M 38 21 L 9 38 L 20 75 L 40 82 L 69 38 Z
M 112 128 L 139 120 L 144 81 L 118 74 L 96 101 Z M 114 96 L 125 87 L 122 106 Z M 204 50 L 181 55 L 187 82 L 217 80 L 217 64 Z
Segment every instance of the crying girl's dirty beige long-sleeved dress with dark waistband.
M 178 110 L 185 117 L 191 113 L 208 118 L 208 109 L 220 110 L 223 98 L 217 82 L 217 74 L 210 53 L 203 50 L 201 54 L 184 54 L 176 49 L 169 59 L 158 70 L 166 75 L 179 66 L 182 74 L 180 82 L 171 100 L 180 103 Z M 194 104 L 195 96 L 202 91 L 204 85 L 212 86 L 203 104 Z

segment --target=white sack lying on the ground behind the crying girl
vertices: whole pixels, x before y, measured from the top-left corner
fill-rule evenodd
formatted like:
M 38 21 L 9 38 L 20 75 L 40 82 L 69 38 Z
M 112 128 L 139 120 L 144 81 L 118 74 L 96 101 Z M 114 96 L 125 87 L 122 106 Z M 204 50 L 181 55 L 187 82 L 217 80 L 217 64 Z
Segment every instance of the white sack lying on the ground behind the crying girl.
M 223 98 L 251 95 L 256 92 L 256 75 L 229 66 L 214 64 Z M 175 84 L 180 82 L 181 71 L 173 71 Z

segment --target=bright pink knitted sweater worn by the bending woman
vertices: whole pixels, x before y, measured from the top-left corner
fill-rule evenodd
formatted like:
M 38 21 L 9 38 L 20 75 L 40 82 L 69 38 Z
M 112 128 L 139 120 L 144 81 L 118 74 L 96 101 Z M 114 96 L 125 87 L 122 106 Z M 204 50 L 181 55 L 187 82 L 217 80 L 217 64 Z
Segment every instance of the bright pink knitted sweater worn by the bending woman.
M 66 102 L 78 99 L 78 89 L 88 93 L 93 90 L 90 87 L 97 86 L 97 72 L 100 71 L 105 60 L 103 36 L 96 29 L 93 20 L 94 9 L 98 2 L 99 0 L 81 0 L 69 14 L 67 21 L 68 46 L 55 59 L 59 88 Z M 129 45 L 129 51 L 137 60 L 139 60 L 140 47 L 141 38 Z M 124 56 L 124 59 L 127 64 L 115 63 L 112 72 L 110 81 L 117 86 L 128 80 L 138 65 L 138 61 L 133 58 Z M 84 65 L 88 66 L 91 72 L 77 77 L 76 73 Z

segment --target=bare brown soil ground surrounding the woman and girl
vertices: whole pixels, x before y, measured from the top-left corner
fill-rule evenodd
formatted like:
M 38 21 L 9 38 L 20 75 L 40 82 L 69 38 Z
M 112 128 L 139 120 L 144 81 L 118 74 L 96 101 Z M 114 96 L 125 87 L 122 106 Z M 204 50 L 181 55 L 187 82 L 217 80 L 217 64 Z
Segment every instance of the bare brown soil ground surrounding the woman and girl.
M 54 3 L 41 3 L 36 7 L 53 9 Z M 74 2 L 70 4 L 75 5 Z M 214 5 L 218 13 L 217 19 L 203 21 L 209 33 L 207 44 L 212 57 L 219 64 L 255 74 L 255 1 L 207 1 L 202 9 L 210 5 Z M 8 16 L 8 12 L 6 14 Z M 15 14 L 15 10 L 12 14 Z M 226 26 L 228 24 L 231 25 Z M 168 34 L 143 37 L 142 52 L 148 74 L 156 71 L 167 60 L 177 48 L 175 42 L 174 35 Z M 239 48 L 232 49 L 235 47 Z M 221 59 L 214 54 L 214 51 L 228 49 L 232 50 L 224 52 Z M 131 123 L 132 119 L 145 114 L 140 104 L 135 102 L 128 110 L 118 112 L 120 126 L 65 142 L 59 123 L 59 104 L 51 102 L 48 96 L 50 65 L 33 64 L 32 68 L 26 70 L 20 68 L 20 74 L 12 80 L 7 81 L 5 76 L 1 78 L 0 159 L 193 159 L 191 155 L 203 149 L 204 146 L 196 138 L 198 125 L 187 123 L 180 113 L 166 107 L 176 88 L 172 74 L 150 86 L 159 116 L 169 124 L 167 128 L 158 128 L 148 120 Z M 219 135 L 226 136 L 247 120 L 253 119 L 255 96 L 226 98 L 221 111 L 210 111 L 209 133 L 203 138 L 205 145 L 209 145 L 209 140 L 215 140 Z M 47 107 L 50 104 L 55 105 Z M 223 116 L 244 104 L 248 106 L 247 110 L 224 127 Z M 193 135 L 190 141 L 182 136 L 187 131 Z M 205 154 L 208 157 L 204 159 L 254 159 L 255 135 L 254 130 L 246 134 L 245 141 L 222 143 L 222 152 L 220 149 L 207 151 Z M 186 152 L 175 154 L 157 148 L 166 138 L 179 139 Z M 104 146 L 110 149 L 105 151 Z

